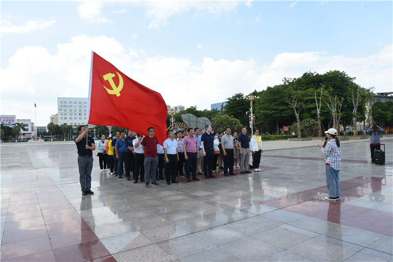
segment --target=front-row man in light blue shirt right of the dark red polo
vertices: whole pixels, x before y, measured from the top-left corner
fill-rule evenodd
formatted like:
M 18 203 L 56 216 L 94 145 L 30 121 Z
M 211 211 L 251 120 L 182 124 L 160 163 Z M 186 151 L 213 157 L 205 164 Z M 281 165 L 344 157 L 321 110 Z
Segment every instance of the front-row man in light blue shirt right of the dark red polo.
M 165 178 L 167 180 L 167 185 L 170 183 L 178 184 L 176 181 L 177 176 L 177 161 L 179 161 L 179 155 L 177 151 L 177 141 L 174 139 L 173 131 L 169 130 L 167 132 L 168 139 L 164 141 L 164 155 L 165 155 Z M 172 178 L 170 177 L 172 175 Z

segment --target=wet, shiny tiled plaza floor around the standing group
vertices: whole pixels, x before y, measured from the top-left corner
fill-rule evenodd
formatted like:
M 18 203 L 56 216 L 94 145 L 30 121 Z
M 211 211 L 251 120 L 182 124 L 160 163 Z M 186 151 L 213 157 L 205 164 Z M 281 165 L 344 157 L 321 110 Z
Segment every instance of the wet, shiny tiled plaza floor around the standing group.
M 322 141 L 264 142 L 261 172 L 144 188 L 100 172 L 82 196 L 70 142 L 2 143 L 1 261 L 393 261 L 393 137 L 341 142 L 341 197 Z M 203 178 L 203 179 L 202 179 Z

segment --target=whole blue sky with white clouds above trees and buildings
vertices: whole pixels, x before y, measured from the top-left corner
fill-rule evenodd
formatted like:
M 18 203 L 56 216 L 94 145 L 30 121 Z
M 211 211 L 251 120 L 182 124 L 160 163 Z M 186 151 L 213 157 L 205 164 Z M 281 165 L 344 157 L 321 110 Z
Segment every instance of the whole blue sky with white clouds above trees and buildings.
M 198 109 L 304 72 L 392 91 L 392 1 L 1 1 L 1 115 L 87 97 L 93 50 Z

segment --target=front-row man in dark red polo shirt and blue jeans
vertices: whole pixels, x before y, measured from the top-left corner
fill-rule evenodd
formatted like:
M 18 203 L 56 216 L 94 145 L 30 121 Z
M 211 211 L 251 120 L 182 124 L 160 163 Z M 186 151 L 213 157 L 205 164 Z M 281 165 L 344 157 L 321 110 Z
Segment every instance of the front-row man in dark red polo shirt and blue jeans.
M 144 137 L 142 142 L 140 142 L 144 152 L 144 188 L 149 187 L 150 178 L 152 186 L 160 186 L 160 184 L 156 182 L 156 169 L 158 165 L 158 139 L 154 136 L 153 127 L 147 128 L 147 133 L 149 135 Z

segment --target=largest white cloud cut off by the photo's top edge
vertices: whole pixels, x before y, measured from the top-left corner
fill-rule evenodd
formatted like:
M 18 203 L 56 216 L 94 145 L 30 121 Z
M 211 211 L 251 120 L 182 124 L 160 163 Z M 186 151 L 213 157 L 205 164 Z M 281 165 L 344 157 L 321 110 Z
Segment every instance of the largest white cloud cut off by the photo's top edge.
M 172 15 L 180 15 L 196 9 L 195 16 L 205 13 L 221 14 L 237 7 L 235 1 L 151 1 L 147 2 L 147 16 L 152 17 L 149 28 L 159 28 L 168 24 Z

